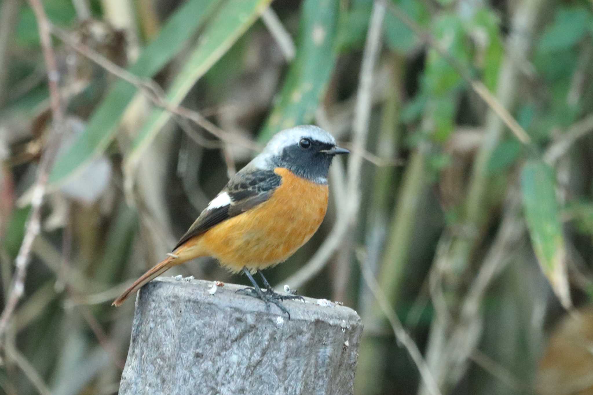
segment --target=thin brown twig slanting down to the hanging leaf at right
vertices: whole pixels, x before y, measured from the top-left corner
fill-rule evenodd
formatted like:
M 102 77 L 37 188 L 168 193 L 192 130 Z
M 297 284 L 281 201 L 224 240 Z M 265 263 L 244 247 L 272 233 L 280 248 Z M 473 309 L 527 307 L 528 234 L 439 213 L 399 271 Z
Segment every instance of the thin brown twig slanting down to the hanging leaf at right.
M 444 49 L 430 33 L 428 33 L 428 31 L 423 29 L 419 24 L 416 23 L 416 21 L 412 20 L 412 18 L 408 17 L 406 12 L 399 8 L 394 2 L 389 1 L 387 4 L 394 17 L 398 18 L 398 20 L 400 20 L 404 25 L 407 25 L 407 27 L 409 27 L 410 30 L 412 30 L 416 36 L 422 40 L 423 43 L 428 44 L 433 50 L 441 55 L 443 59 L 445 59 L 447 63 L 449 63 L 449 65 L 455 69 L 461 78 L 470 84 L 471 89 L 473 89 L 473 91 L 476 92 L 476 94 L 482 98 L 484 102 L 486 102 L 490 109 L 500 117 L 500 119 L 506 124 L 506 126 L 512 131 L 512 133 L 521 143 L 531 143 L 531 138 L 527 132 L 521 127 L 521 125 L 517 123 L 511 113 L 509 113 L 509 111 L 506 110 L 502 104 L 500 104 L 500 101 L 495 97 L 495 95 L 493 95 L 492 92 L 486 88 L 486 85 L 474 79 L 466 66 L 459 62 L 459 60 L 455 59 L 455 57 L 451 56 L 451 54 L 449 54 L 447 50 Z

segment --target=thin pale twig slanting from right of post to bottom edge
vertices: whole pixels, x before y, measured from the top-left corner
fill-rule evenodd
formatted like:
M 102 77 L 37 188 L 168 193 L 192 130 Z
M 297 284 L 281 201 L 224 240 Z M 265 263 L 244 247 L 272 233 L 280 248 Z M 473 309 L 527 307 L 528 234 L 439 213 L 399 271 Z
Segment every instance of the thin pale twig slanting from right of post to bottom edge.
M 410 354 L 410 357 L 412 357 L 412 360 L 414 361 L 414 364 L 416 365 L 416 368 L 420 373 L 420 377 L 422 377 L 422 381 L 424 381 L 428 391 L 433 395 L 441 394 L 441 390 L 439 390 L 439 387 L 436 385 L 435 378 L 433 377 L 431 370 L 428 368 L 426 361 L 422 357 L 420 350 L 416 346 L 416 343 L 413 341 L 412 338 L 410 338 L 410 335 L 408 335 L 406 329 L 404 329 L 403 325 L 401 325 L 401 322 L 396 316 L 396 313 L 393 312 L 393 307 L 390 306 L 387 297 L 385 297 L 385 294 L 379 287 L 377 280 L 375 280 L 375 277 L 373 276 L 371 269 L 363 263 L 365 261 L 365 255 L 366 254 L 364 253 L 364 251 L 360 249 L 356 251 L 356 261 L 358 262 L 358 265 L 361 267 L 362 277 L 364 277 L 366 285 L 377 299 L 379 307 L 381 307 L 381 310 L 385 314 L 385 317 L 387 317 L 387 319 L 389 320 L 389 323 L 391 324 L 391 329 L 393 329 L 393 333 L 394 335 L 396 335 L 398 343 L 403 345 L 404 348 L 406 348 L 408 354 Z

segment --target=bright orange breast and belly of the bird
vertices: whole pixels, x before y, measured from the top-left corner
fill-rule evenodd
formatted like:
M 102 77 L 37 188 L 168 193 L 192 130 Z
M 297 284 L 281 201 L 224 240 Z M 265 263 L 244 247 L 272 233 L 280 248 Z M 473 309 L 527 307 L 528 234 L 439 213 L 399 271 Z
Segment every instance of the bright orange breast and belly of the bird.
M 276 168 L 275 173 L 282 176 L 282 184 L 269 200 L 196 237 L 202 251 L 231 271 L 285 261 L 313 236 L 326 215 L 327 185 L 285 168 Z

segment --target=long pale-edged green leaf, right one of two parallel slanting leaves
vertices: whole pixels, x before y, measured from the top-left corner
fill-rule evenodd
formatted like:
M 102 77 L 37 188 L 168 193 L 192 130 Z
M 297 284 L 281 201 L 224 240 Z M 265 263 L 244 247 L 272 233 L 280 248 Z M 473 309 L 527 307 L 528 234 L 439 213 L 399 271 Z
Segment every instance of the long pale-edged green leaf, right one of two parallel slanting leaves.
M 167 101 L 172 105 L 179 104 L 196 81 L 247 31 L 270 2 L 272 0 L 228 0 L 209 22 L 183 69 L 171 84 Z M 170 118 L 168 111 L 160 108 L 152 111 L 126 157 L 127 171 L 133 169 L 144 149 Z

